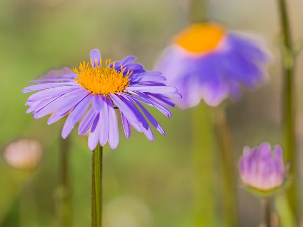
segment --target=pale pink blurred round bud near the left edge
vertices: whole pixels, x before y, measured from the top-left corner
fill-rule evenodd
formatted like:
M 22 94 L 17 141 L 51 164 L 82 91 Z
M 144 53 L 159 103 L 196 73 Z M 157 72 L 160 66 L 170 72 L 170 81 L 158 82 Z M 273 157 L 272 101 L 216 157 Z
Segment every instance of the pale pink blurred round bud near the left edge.
M 10 143 L 3 151 L 7 165 L 17 169 L 35 169 L 41 162 L 43 148 L 34 139 L 18 139 Z

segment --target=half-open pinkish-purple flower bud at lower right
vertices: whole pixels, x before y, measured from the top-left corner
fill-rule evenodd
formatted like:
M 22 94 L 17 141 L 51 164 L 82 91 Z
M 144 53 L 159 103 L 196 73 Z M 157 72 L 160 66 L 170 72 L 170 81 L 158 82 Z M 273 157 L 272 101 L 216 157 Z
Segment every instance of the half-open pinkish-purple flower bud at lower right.
M 282 186 L 288 177 L 289 164 L 283 162 L 283 150 L 275 145 L 273 152 L 269 143 L 250 149 L 244 147 L 239 161 L 239 172 L 245 186 L 260 191 L 270 191 Z

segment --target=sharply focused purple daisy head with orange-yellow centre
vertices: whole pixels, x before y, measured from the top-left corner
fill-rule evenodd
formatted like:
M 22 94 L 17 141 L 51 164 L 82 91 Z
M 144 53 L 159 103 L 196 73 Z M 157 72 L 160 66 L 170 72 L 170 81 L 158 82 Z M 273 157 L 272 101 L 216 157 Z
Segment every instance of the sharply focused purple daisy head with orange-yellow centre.
M 145 71 L 142 65 L 133 63 L 135 59 L 127 56 L 120 62 L 106 60 L 102 66 L 99 50 L 93 49 L 90 63 L 80 63 L 73 73 L 31 81 L 38 84 L 22 90 L 23 93 L 37 91 L 26 102 L 27 113 L 33 112 L 33 118 L 38 119 L 54 112 L 47 121 L 49 125 L 69 112 L 62 137 L 65 139 L 81 121 L 79 135 L 91 128 L 88 147 L 93 150 L 98 143 L 104 146 L 109 142 L 112 149 L 118 146 L 115 109 L 119 109 L 126 138 L 130 137 L 131 125 L 153 142 L 154 135 L 146 119 L 161 134 L 165 135 L 165 131 L 141 103 L 156 107 L 170 118 L 171 111 L 166 107 L 173 107 L 174 102 L 167 96 L 181 95 L 176 88 L 162 83 L 165 77 L 160 72 Z

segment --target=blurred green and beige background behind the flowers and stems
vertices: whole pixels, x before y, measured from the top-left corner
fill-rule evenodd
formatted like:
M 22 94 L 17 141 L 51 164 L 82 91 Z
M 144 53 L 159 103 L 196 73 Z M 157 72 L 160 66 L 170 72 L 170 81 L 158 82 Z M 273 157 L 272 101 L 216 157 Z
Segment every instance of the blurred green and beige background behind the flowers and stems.
M 295 40 L 303 37 L 303 2 L 287 1 Z M 77 67 L 98 48 L 104 58 L 137 56 L 153 69 L 170 37 L 188 22 L 185 0 L 0 0 L 0 147 L 20 137 L 36 138 L 44 147 L 34 173 L 21 172 L 0 161 L 0 226 L 58 226 L 59 137 L 62 122 L 25 115 L 28 95 L 21 89 L 50 69 Z M 271 80 L 227 107 L 235 162 L 245 145 L 281 142 L 281 55 L 277 45 L 279 17 L 275 0 L 210 0 L 209 18 L 230 28 L 264 37 L 273 52 Z M 296 66 L 297 144 L 303 147 L 303 54 Z M 104 152 L 106 227 L 192 226 L 191 112 L 174 108 L 167 120 L 150 109 L 166 130 L 155 132 L 151 144 L 134 130 L 120 133 L 116 150 Z M 72 143 L 73 220 L 90 225 L 91 152 L 77 130 Z M 201 145 L 201 152 L 207 152 Z M 301 158 L 298 160 L 301 161 Z M 209 174 L 209 173 L 201 173 Z M 219 172 L 213 173 L 220 179 Z M 238 187 L 240 226 L 258 226 L 259 200 Z M 219 192 L 218 180 L 218 192 Z M 220 199 L 218 195 L 218 209 Z

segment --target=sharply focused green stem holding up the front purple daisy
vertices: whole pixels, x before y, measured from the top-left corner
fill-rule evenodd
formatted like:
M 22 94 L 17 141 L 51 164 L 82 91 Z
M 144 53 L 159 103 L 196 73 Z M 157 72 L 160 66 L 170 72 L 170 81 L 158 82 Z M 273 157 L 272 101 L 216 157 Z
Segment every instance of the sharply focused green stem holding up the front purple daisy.
M 99 144 L 92 152 L 91 226 L 102 226 L 102 155 Z

